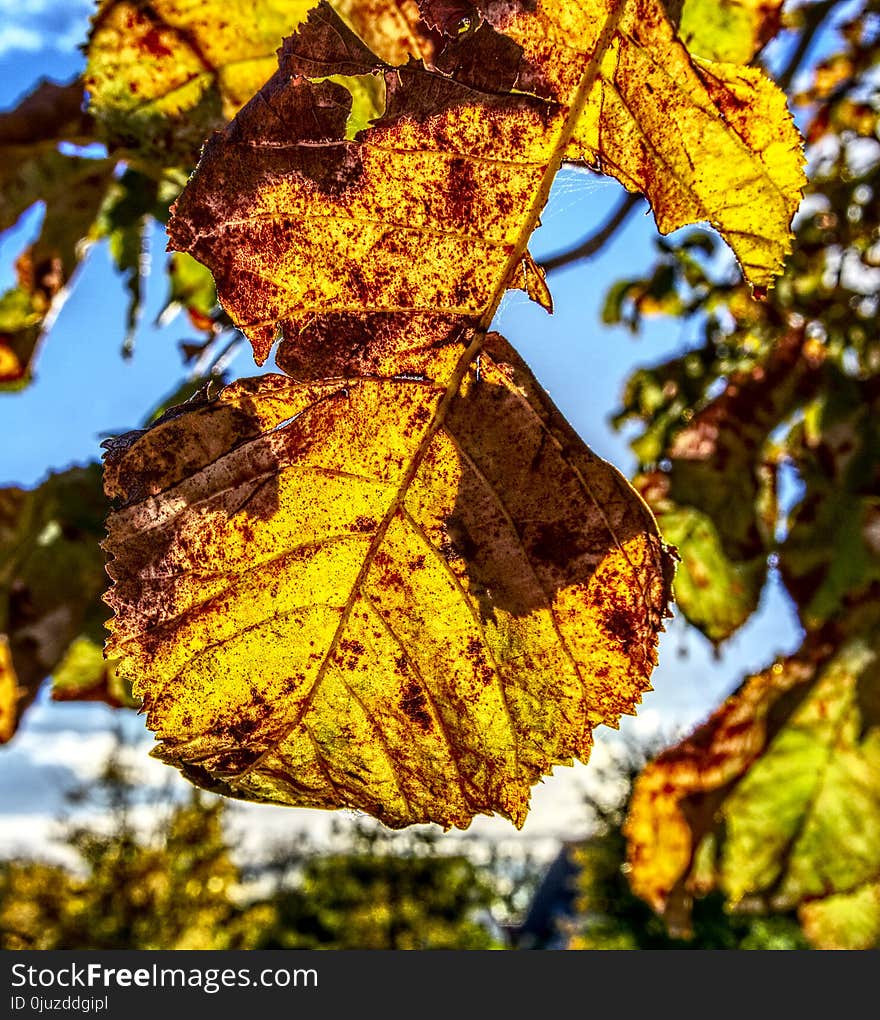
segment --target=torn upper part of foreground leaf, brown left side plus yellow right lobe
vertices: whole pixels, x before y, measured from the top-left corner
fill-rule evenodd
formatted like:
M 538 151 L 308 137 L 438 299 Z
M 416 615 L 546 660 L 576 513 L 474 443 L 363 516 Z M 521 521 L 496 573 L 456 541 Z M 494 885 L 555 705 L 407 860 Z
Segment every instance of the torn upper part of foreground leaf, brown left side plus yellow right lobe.
M 522 286 L 513 265 L 563 156 L 598 155 L 645 190 L 664 231 L 710 219 L 753 283 L 769 284 L 803 177 L 784 97 L 758 71 L 742 72 L 752 86 L 729 88 L 722 78 L 733 70 L 704 73 L 651 2 L 489 4 L 488 20 L 448 39 L 433 70 L 389 66 L 321 4 L 284 41 L 276 74 L 209 141 L 170 221 L 172 247 L 214 272 L 258 361 L 282 334 L 279 364 L 297 374 L 310 370 L 311 351 L 356 332 L 338 360 L 369 348 L 371 367 L 390 354 L 416 371 L 418 350 L 460 317 L 483 321 L 500 279 Z M 635 120 L 615 113 L 624 56 Z M 660 64 L 682 81 L 667 70 L 645 82 Z M 352 83 L 374 76 L 384 113 L 351 137 Z M 675 132 L 663 89 L 689 97 Z

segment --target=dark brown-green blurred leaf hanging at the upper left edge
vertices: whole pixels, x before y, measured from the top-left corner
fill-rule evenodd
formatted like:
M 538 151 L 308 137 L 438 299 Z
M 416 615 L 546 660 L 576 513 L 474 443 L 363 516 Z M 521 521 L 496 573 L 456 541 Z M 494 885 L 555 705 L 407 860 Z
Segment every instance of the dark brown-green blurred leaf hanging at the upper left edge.
M 15 263 L 16 286 L 0 296 L 0 387 L 18 387 L 83 255 L 111 180 L 112 162 L 58 151 L 94 140 L 80 82 L 41 82 L 0 114 L 0 231 L 44 202 L 37 240 Z

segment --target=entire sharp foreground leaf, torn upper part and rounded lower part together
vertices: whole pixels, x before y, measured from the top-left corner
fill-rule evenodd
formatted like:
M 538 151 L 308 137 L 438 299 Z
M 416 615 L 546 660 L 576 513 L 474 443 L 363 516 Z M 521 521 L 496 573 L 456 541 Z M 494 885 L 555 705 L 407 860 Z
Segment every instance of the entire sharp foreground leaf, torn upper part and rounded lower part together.
M 423 12 L 429 64 L 393 67 L 315 8 L 173 207 L 172 246 L 298 381 L 111 445 L 108 652 L 157 754 L 209 788 L 522 824 L 529 786 L 645 690 L 669 564 L 635 495 L 487 342 L 494 313 L 511 286 L 543 296 L 526 246 L 564 158 L 607 160 L 665 230 L 711 210 L 765 286 L 800 155 L 782 95 L 707 76 L 658 5 Z M 661 58 L 677 92 L 652 106 Z M 380 115 L 353 132 L 375 81 Z M 672 101 L 678 141 L 649 151 Z M 733 208 L 697 157 L 754 194 Z

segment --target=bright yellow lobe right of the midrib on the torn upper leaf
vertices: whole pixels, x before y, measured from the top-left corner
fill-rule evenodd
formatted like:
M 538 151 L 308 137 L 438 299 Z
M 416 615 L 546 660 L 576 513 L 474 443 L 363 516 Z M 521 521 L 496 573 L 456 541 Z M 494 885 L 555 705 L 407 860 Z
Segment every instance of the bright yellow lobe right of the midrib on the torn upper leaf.
M 485 16 L 522 47 L 521 88 L 558 99 L 601 61 L 568 158 L 642 192 L 663 234 L 711 223 L 753 287 L 772 284 L 806 178 L 785 96 L 762 71 L 690 56 L 662 0 L 520 0 Z

